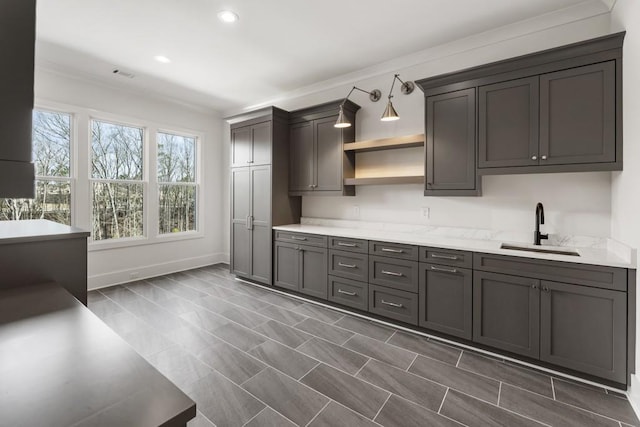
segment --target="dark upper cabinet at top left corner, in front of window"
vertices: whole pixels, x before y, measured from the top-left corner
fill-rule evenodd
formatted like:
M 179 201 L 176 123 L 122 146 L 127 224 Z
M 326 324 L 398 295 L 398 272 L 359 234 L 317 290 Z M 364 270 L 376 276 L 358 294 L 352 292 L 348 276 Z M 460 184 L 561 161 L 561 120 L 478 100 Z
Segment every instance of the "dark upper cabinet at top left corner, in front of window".
M 33 198 L 31 163 L 35 0 L 0 4 L 0 197 Z

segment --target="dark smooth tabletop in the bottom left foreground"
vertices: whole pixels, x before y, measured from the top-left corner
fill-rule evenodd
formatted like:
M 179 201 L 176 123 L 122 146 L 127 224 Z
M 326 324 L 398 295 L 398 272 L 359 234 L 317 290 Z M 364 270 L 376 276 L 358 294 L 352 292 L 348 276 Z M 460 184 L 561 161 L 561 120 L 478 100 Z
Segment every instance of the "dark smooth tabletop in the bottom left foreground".
M 0 426 L 185 426 L 196 405 L 66 290 L 0 291 Z

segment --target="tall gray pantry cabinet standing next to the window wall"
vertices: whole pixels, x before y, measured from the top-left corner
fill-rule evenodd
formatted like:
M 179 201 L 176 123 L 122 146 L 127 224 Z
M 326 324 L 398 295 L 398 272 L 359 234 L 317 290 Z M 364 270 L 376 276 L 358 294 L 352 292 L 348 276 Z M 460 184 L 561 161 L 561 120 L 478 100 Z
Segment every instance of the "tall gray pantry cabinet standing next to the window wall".
M 231 272 L 271 285 L 271 227 L 300 222 L 289 196 L 289 114 L 268 107 L 228 119 L 231 127 Z

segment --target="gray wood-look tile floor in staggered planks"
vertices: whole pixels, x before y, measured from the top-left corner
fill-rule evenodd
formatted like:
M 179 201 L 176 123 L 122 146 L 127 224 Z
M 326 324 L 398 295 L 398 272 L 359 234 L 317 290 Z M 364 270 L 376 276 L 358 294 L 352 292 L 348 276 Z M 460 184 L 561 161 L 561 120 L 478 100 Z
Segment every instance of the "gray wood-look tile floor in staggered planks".
M 640 426 L 622 394 L 237 280 L 215 266 L 89 308 L 197 403 L 190 427 Z

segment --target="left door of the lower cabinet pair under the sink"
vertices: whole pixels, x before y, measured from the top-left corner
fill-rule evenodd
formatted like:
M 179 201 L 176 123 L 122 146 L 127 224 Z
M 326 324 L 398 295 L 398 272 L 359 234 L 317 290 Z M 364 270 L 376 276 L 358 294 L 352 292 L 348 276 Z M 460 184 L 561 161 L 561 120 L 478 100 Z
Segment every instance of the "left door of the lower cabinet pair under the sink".
M 538 358 L 539 280 L 474 272 L 473 340 Z

